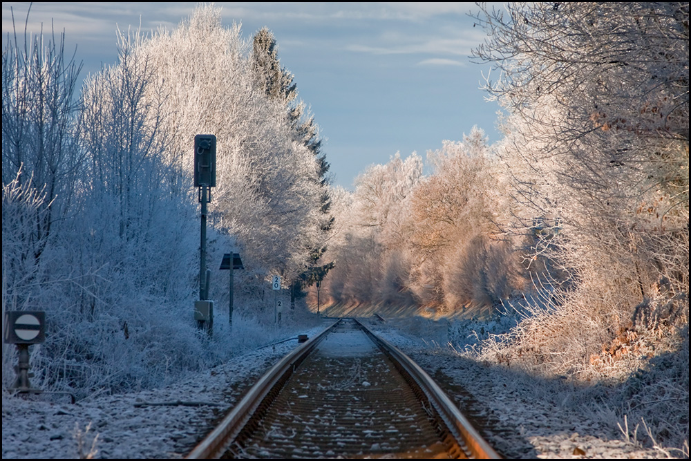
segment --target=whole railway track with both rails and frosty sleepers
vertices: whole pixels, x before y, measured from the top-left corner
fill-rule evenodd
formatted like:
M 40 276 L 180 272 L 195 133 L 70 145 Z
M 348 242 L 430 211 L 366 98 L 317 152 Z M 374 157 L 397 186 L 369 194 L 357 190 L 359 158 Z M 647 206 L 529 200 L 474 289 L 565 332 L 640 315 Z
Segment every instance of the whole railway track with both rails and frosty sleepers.
M 278 362 L 187 456 L 500 458 L 424 371 L 354 319 Z

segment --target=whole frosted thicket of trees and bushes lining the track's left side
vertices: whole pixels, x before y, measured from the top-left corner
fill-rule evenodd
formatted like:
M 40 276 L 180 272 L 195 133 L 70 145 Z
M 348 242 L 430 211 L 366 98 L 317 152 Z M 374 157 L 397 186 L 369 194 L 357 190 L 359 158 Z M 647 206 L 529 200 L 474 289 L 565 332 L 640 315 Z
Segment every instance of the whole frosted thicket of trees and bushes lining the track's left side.
M 290 107 L 258 86 L 239 26 L 201 6 L 173 32 L 118 40 L 118 62 L 86 79 L 79 104 L 79 66 L 59 44 L 3 53 L 3 310 L 46 311 L 32 384 L 80 398 L 161 386 L 289 335 L 307 308 L 273 326 L 266 279 L 296 279 L 324 238 L 323 164 Z M 245 264 L 236 328 L 216 302 L 212 336 L 193 320 L 198 133 L 218 138 L 208 265 L 219 301 L 220 258 Z M 3 348 L 3 371 L 11 355 Z

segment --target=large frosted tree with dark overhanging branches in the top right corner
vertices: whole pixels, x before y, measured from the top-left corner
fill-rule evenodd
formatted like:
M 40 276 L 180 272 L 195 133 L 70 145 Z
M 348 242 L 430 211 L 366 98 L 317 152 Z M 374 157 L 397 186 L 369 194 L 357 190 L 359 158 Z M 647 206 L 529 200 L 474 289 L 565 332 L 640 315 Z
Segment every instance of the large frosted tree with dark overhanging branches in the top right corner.
M 511 3 L 478 20 L 524 227 L 560 216 L 586 254 L 631 256 L 631 302 L 660 276 L 685 291 L 688 3 Z

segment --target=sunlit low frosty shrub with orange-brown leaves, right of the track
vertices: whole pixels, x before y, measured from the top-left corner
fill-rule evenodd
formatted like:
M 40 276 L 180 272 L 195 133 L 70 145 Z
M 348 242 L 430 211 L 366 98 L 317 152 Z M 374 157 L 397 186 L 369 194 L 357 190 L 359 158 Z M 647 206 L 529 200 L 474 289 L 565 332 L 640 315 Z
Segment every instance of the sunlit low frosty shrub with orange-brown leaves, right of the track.
M 483 359 L 591 382 L 623 379 L 645 359 L 678 345 L 669 338 L 688 324 L 684 294 L 630 307 L 622 303 L 616 278 L 588 282 L 570 292 L 544 284 L 542 305 L 522 308 L 526 318 L 510 335 L 490 339 Z

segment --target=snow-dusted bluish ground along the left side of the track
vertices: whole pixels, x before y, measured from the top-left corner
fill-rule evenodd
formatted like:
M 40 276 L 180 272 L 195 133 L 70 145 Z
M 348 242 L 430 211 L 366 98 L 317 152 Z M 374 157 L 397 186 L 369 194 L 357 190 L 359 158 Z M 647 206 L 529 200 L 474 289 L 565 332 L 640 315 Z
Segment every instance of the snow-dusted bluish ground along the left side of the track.
M 304 333 L 313 337 L 323 328 Z M 97 397 L 77 404 L 70 404 L 68 397 L 49 403 L 48 396 L 23 399 L 3 393 L 2 458 L 81 458 L 78 431 L 82 432 L 84 457 L 97 437 L 95 458 L 184 458 L 214 421 L 223 417 L 223 408 L 238 402 L 297 345 L 294 339 L 261 348 L 160 390 Z

